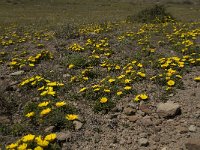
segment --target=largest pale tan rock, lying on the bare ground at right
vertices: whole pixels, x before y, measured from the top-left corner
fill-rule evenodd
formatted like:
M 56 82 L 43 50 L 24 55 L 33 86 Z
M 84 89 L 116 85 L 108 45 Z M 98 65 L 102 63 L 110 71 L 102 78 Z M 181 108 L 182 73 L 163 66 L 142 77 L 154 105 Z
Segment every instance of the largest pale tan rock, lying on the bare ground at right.
M 181 113 L 181 107 L 178 103 L 168 101 L 157 105 L 157 113 L 163 118 L 172 118 Z

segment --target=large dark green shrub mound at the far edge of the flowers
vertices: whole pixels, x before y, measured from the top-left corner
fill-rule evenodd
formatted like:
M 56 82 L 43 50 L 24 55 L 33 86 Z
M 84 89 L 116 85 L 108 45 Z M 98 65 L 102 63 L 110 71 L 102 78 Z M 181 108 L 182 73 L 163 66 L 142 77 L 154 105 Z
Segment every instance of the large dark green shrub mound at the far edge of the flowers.
M 128 16 L 127 20 L 139 23 L 164 23 L 174 20 L 174 17 L 166 12 L 163 5 L 155 5 L 140 11 L 134 16 Z

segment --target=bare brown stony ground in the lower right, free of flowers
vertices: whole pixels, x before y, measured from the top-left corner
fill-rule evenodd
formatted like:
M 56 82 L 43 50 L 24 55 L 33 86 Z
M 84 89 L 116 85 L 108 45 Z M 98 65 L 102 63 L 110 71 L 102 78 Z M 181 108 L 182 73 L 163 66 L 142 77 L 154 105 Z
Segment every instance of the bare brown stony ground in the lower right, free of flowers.
M 176 104 L 165 107 L 162 113 L 157 112 L 162 99 L 139 105 L 124 99 L 106 115 L 96 115 L 85 106 L 86 123 L 77 132 L 67 131 L 63 149 L 198 150 L 200 85 L 191 79 L 199 71 L 195 68 L 183 77 L 185 89 L 170 95 L 166 103 Z M 177 108 L 180 113 L 176 113 Z M 169 114 L 169 118 L 162 117 Z

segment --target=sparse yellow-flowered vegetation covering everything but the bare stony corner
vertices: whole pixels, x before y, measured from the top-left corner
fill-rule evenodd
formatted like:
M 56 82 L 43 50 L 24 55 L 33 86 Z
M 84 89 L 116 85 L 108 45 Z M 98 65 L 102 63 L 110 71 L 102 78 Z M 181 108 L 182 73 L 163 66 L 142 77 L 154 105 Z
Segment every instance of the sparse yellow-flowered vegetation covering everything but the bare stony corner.
M 114 8 L 117 10 L 119 3 L 122 12 L 115 12 L 117 18 L 106 12 L 87 16 L 89 21 L 85 20 L 85 14 L 76 18 L 86 9 L 80 5 L 87 4 L 92 9 L 108 7 L 110 10 L 106 11 L 110 12 Z M 21 12 L 22 4 L 25 7 L 24 18 L 16 20 L 16 13 L 9 20 L 11 12 Z M 31 20 L 27 13 L 31 4 L 39 5 L 34 10 L 38 11 L 34 17 L 47 15 L 47 20 Z M 44 4 L 58 12 L 49 13 Z M 74 18 L 69 19 L 78 19 L 79 22 L 65 20 L 64 5 L 67 9 L 79 9 L 77 14 L 71 12 Z M 193 22 L 188 22 L 188 18 L 184 20 L 174 15 L 176 4 L 166 2 L 165 7 L 144 3 L 145 7 L 138 8 L 137 13 L 130 11 L 135 6 L 130 8 L 129 5 L 126 1 L 114 3 L 112 0 L 67 3 L 63 0 L 49 3 L 6 0 L 0 5 L 0 12 L 5 11 L 3 6 L 14 7 L 0 25 L 2 149 L 61 149 L 66 146 L 64 142 L 77 141 L 82 138 L 80 133 L 87 134 L 79 133 L 87 121 L 95 124 L 91 130 L 102 132 L 103 123 L 95 118 L 97 116 L 116 112 L 107 126 L 114 129 L 121 119 L 117 115 L 127 105 L 125 114 L 128 117 L 122 116 L 122 120 L 129 119 L 143 105 L 166 101 L 176 94 L 177 89 L 185 88 L 184 76 L 200 66 L 200 23 L 195 17 L 196 12 L 187 10 L 194 17 L 191 18 Z M 134 5 L 140 6 L 139 3 Z M 193 6 L 189 1 L 183 2 L 180 7 L 184 11 L 185 5 Z M 58 14 L 63 20 L 55 17 Z M 48 16 L 55 17 L 55 20 L 48 19 Z M 131 23 L 127 22 L 127 16 Z M 102 19 L 104 17 L 106 21 Z M 35 24 L 27 23 L 29 19 Z M 8 22 L 12 24 L 6 25 Z M 51 23 L 44 25 L 45 22 Z M 196 83 L 200 79 L 196 76 L 192 80 Z M 129 111 L 131 107 L 134 107 L 134 112 Z M 149 110 L 145 111 L 149 113 Z M 145 116 L 145 113 L 140 112 L 140 115 Z M 130 122 L 135 121 L 132 118 Z M 131 128 L 130 122 L 123 120 L 122 127 Z M 62 132 L 69 137 L 60 139 L 58 135 Z

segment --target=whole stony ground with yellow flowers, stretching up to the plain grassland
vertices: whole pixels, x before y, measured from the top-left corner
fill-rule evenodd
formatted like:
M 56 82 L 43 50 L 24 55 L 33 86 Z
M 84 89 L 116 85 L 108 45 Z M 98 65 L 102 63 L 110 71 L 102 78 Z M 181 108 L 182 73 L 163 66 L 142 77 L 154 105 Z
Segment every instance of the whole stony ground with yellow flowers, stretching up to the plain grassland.
M 18 30 L 5 28 L 0 38 L 2 149 L 30 133 L 56 134 L 49 147 L 32 139 L 44 149 L 200 149 L 198 22 L 122 21 L 78 35 Z

